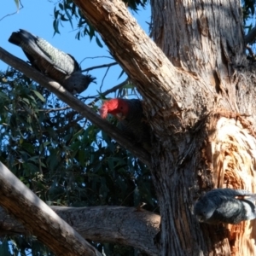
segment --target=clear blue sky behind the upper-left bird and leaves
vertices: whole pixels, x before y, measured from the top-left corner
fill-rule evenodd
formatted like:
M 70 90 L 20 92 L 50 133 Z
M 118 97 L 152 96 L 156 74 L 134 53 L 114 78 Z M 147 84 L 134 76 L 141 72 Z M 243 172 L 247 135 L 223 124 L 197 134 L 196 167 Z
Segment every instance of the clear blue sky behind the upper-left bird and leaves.
M 61 34 L 55 34 L 55 36 L 53 36 L 53 10 L 55 3 L 45 0 L 24 0 L 21 2 L 24 6 L 23 9 L 20 9 L 15 15 L 9 15 L 16 12 L 15 0 L 5 0 L 4 2 L 0 9 L 0 46 L 20 59 L 26 61 L 26 56 L 23 54 L 20 47 L 8 42 L 11 33 L 18 31 L 20 28 L 26 29 L 40 38 L 44 38 L 56 48 L 73 55 L 79 62 L 85 57 L 109 56 L 107 47 L 100 48 L 96 44 L 95 39 L 92 39 L 91 42 L 89 37 L 80 38 L 80 40 L 75 39 L 77 32 L 75 30 L 75 20 L 73 21 L 74 31 L 68 22 L 64 22 L 64 26 L 60 26 Z M 5 15 L 9 16 L 3 18 Z M 137 22 L 143 27 L 143 30 L 148 33 L 148 24 L 146 22 L 150 21 L 149 6 L 147 9 L 141 9 L 137 14 L 133 13 L 132 15 L 135 16 Z M 102 44 L 104 43 L 102 42 Z M 81 64 L 81 67 L 84 69 L 110 62 L 113 62 L 113 60 L 107 58 L 86 59 Z M 6 68 L 7 65 L 3 61 L 0 61 L 0 70 L 6 70 Z M 86 96 L 96 94 L 96 90 L 98 90 L 99 86 L 102 84 L 102 78 L 105 72 L 106 68 L 96 69 L 90 72 L 96 77 L 97 84 L 90 84 L 90 87 L 85 90 Z M 102 91 L 125 80 L 125 76 L 118 79 L 120 72 L 120 67 L 111 67 L 104 80 Z

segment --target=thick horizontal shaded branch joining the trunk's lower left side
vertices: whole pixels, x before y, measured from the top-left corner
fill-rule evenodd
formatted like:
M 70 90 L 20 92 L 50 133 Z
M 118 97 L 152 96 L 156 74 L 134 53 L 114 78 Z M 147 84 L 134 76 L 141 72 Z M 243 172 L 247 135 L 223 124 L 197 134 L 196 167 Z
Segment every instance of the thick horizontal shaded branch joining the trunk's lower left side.
M 134 207 L 50 207 L 84 239 L 113 242 L 159 255 L 154 236 L 159 232 L 160 216 Z M 100 223 L 100 224 L 99 224 Z M 24 226 L 0 207 L 0 236 L 7 233 L 29 235 Z

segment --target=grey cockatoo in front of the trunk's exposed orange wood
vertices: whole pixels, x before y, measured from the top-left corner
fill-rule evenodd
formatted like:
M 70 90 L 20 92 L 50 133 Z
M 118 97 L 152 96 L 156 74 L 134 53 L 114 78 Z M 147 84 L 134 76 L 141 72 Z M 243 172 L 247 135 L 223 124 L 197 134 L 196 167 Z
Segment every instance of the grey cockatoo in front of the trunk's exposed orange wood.
M 242 189 L 212 189 L 195 203 L 194 214 L 207 224 L 238 224 L 256 218 L 256 194 Z

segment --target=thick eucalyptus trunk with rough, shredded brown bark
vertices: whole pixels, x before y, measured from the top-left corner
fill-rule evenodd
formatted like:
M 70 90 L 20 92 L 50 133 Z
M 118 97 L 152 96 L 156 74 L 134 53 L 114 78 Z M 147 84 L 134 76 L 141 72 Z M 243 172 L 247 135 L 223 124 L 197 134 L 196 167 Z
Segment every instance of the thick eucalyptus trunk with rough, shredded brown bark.
M 199 224 L 192 214 L 202 191 L 255 192 L 256 84 L 245 56 L 240 1 L 151 5 L 154 42 L 181 73 L 201 81 L 191 102 L 180 99 L 186 108 L 173 111 L 171 102 L 152 122 L 161 255 L 256 255 L 255 221 L 216 226 Z M 180 84 L 189 95 L 188 88 Z

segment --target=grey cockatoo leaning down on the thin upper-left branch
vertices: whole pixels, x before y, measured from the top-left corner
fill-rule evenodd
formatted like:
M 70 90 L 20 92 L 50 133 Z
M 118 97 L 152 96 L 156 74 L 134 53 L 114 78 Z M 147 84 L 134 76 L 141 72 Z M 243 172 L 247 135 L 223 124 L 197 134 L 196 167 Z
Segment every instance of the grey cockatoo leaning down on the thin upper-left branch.
M 11 44 L 23 49 L 33 67 L 60 83 L 72 94 L 87 89 L 95 78 L 81 72 L 79 63 L 60 49 L 56 49 L 43 38 L 38 38 L 26 30 L 13 32 L 9 38 Z

